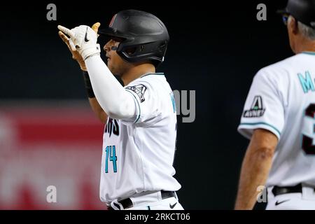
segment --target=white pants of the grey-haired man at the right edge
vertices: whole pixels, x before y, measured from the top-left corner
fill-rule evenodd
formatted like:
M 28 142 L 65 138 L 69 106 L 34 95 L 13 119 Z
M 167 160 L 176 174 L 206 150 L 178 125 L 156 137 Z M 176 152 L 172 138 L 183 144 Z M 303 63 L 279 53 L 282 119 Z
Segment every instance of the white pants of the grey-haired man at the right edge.
M 315 210 L 314 188 L 302 187 L 302 193 L 288 193 L 274 196 L 268 188 L 266 210 Z

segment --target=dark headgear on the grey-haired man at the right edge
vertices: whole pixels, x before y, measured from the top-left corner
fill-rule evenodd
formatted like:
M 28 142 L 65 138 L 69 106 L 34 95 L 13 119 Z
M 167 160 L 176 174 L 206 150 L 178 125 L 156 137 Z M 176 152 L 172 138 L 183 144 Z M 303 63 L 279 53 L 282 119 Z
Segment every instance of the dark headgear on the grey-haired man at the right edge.
M 315 0 L 288 0 L 286 8 L 277 13 L 292 15 L 304 25 L 315 28 Z

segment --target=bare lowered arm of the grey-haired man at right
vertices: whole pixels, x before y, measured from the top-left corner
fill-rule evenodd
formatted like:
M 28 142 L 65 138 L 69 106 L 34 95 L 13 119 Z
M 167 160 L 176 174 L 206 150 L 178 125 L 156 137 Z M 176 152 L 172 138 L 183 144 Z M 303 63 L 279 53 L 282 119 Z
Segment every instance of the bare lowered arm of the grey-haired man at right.
M 265 186 L 277 144 L 278 139 L 272 132 L 263 129 L 253 131 L 241 166 L 235 209 L 253 209 L 260 193 L 257 188 Z

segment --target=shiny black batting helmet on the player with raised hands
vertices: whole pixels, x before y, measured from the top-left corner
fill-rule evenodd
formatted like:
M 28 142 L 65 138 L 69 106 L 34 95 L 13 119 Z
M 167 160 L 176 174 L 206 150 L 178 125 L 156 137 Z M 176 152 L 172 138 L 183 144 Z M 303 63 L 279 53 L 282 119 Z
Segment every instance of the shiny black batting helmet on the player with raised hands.
M 155 66 L 163 62 L 169 34 L 163 22 L 151 13 L 122 10 L 113 16 L 109 27 L 100 35 L 121 38 L 117 53 L 127 62 L 151 61 Z

